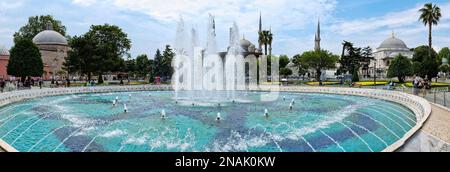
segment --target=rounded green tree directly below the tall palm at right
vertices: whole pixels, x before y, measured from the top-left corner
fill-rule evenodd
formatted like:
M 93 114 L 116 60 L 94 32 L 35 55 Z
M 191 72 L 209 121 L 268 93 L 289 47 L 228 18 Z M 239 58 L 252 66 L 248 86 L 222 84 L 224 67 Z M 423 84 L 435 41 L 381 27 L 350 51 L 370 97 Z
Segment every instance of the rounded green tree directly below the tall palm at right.
M 428 51 L 429 47 L 425 45 L 414 49 L 412 61 L 413 63 L 417 63 L 413 64 L 413 71 L 414 74 L 421 77 L 428 76 L 429 78 L 434 78 L 439 72 L 440 62 L 437 61 L 437 53 L 433 49 L 431 51 L 431 56 L 429 56 Z

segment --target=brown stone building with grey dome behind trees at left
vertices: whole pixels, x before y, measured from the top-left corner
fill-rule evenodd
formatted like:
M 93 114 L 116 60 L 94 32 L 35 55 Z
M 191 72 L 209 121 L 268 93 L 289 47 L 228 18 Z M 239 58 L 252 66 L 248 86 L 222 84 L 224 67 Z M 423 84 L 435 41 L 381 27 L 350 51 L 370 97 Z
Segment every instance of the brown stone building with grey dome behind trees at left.
M 44 79 L 52 79 L 64 72 L 62 67 L 69 45 L 63 35 L 53 30 L 51 23 L 47 24 L 46 30 L 33 38 L 33 43 L 39 47 L 41 52 L 44 63 Z

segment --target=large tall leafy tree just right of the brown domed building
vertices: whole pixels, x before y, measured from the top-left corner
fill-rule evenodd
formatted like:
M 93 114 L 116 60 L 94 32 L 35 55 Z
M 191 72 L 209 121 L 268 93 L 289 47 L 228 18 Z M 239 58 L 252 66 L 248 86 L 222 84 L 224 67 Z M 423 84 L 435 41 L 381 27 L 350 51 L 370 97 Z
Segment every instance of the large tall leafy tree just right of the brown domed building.
M 96 64 L 96 72 L 99 75 L 99 83 L 103 83 L 103 73 L 114 71 L 120 59 L 127 54 L 131 48 L 131 41 L 121 28 L 114 25 L 93 25 L 85 34 L 95 46 L 94 56 L 99 57 L 101 62 Z

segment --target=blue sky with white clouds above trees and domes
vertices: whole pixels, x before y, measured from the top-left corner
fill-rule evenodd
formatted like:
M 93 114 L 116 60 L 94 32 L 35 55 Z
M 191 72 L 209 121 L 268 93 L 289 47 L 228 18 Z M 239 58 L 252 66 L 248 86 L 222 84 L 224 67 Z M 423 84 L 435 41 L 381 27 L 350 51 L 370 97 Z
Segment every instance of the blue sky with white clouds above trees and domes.
M 293 56 L 314 46 L 317 20 L 322 24 L 322 48 L 339 53 L 343 40 L 357 46 L 378 45 L 395 32 L 409 47 L 427 43 L 427 28 L 417 10 L 426 2 L 438 3 L 443 18 L 435 27 L 436 49 L 450 46 L 448 0 L 1 0 L 0 45 L 10 48 L 12 35 L 29 16 L 53 15 L 69 35 L 80 35 L 92 24 L 118 25 L 132 40 L 130 53 L 153 57 L 157 48 L 173 44 L 180 15 L 188 27 L 199 30 L 206 44 L 208 13 L 216 17 L 219 50 L 228 45 L 228 28 L 236 21 L 241 35 L 257 43 L 258 18 L 274 33 L 274 54 Z

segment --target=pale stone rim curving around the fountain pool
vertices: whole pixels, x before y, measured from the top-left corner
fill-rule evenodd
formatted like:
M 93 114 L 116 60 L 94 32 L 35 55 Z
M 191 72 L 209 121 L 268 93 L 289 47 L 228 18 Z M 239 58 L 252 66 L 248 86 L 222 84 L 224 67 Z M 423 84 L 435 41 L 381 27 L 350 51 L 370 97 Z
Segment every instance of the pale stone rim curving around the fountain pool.
M 74 88 L 44 88 L 33 90 L 21 90 L 0 94 L 0 107 L 14 102 L 30 98 L 56 96 L 65 94 L 80 93 L 105 93 L 105 92 L 127 92 L 127 91 L 164 91 L 173 90 L 171 85 L 137 85 L 137 86 L 104 86 L 104 87 L 74 87 Z M 416 131 L 422 128 L 424 122 L 431 114 L 430 103 L 418 96 L 396 91 L 361 89 L 361 88 L 336 88 L 336 87 L 274 87 L 260 86 L 254 91 L 282 91 L 282 92 L 301 92 L 301 93 L 324 93 L 340 95 L 356 95 L 371 98 L 377 98 L 399 103 L 416 114 L 416 125 L 409 130 L 401 139 L 388 146 L 383 152 L 393 152 L 400 148 Z M 17 152 L 12 146 L 0 139 L 0 148 L 6 152 Z

